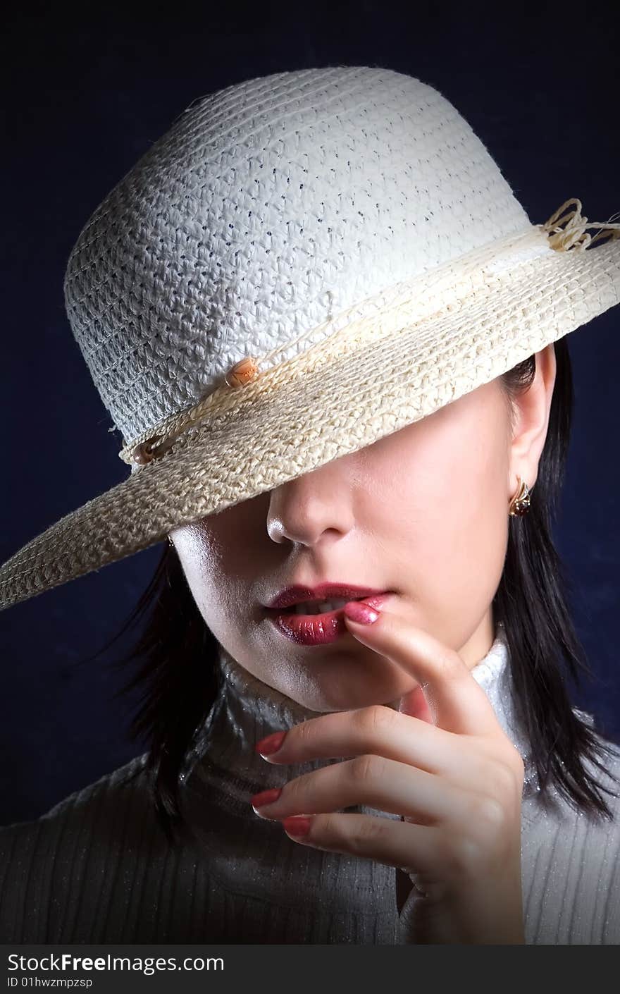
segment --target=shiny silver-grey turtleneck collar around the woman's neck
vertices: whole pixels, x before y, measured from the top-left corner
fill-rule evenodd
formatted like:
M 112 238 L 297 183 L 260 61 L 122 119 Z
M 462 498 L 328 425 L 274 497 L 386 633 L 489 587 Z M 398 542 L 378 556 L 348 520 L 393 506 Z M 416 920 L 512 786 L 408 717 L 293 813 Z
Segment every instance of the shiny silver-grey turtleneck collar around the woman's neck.
M 206 766 L 211 766 L 233 777 L 250 781 L 257 779 L 264 787 L 278 786 L 293 775 L 337 761 L 317 759 L 296 766 L 265 763 L 254 751 L 254 745 L 260 739 L 316 718 L 323 712 L 312 711 L 265 684 L 240 666 L 223 646 L 220 646 L 217 665 L 221 678 L 220 692 L 207 722 L 199 730 L 194 747 L 186 757 L 182 781 L 192 778 L 196 766 L 203 772 Z M 530 745 L 517 717 L 509 648 L 501 622 L 496 626 L 489 652 L 471 673 L 487 694 L 504 732 L 524 758 L 526 790 L 536 789 Z

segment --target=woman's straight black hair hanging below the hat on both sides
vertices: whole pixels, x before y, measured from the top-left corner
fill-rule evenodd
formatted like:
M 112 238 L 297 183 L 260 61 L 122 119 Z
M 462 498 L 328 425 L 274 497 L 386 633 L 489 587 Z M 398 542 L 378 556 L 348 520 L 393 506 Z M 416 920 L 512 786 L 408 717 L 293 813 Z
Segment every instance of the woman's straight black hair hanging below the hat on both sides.
M 573 406 L 570 357 L 564 338 L 554 343 L 556 376 L 539 473 L 531 508 L 509 518 L 504 571 L 493 598 L 494 620 L 502 621 L 510 650 L 517 707 L 532 745 L 541 792 L 552 782 L 576 810 L 611 818 L 584 758 L 605 766 L 596 751 L 610 750 L 572 710 L 564 674 L 576 685 L 593 674 L 567 606 L 569 580 L 551 538 L 551 521 L 564 476 Z M 511 402 L 532 384 L 532 355 L 499 378 Z M 115 696 L 144 686 L 143 703 L 129 729 L 148 742 L 146 768 L 157 819 L 170 844 L 189 826 L 181 810 L 179 773 L 195 732 L 207 720 L 219 690 L 215 665 L 219 643 L 205 624 L 176 551 L 165 544 L 148 587 L 123 627 L 95 655 L 109 648 L 141 619 L 145 627 L 115 667 L 141 661 Z M 90 659 L 94 657 L 89 657 Z M 83 660 L 82 662 L 87 662 Z

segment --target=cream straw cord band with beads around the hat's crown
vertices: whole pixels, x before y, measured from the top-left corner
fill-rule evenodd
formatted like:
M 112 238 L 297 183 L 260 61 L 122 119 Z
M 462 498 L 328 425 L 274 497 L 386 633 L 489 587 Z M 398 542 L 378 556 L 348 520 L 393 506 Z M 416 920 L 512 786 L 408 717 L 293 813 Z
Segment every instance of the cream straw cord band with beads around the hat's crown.
M 574 205 L 573 210 L 562 216 L 570 205 Z M 586 228 L 600 231 L 592 238 Z M 164 455 L 187 429 L 206 418 L 214 425 L 220 423 L 242 404 L 251 404 L 258 396 L 277 390 L 282 378 L 303 377 L 365 343 L 389 338 L 443 311 L 449 313 L 472 293 L 492 293 L 501 283 L 502 273 L 513 277 L 520 263 L 546 254 L 549 249 L 584 250 L 608 237 L 620 237 L 620 224 L 588 222 L 581 215 L 580 201 L 565 201 L 543 225 L 529 226 L 521 234 L 474 249 L 410 281 L 401 281 L 265 355 L 241 357 L 220 386 L 191 408 L 165 418 L 128 442 L 119 457 L 132 465 L 132 471 L 137 470 Z M 293 355 L 282 359 L 291 349 Z M 242 398 L 238 387 L 245 388 Z

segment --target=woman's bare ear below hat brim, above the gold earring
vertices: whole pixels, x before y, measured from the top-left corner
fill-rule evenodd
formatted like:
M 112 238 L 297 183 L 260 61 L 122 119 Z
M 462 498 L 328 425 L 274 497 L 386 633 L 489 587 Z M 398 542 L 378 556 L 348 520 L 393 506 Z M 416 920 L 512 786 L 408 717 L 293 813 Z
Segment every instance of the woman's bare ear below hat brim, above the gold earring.
M 509 498 L 521 476 L 532 488 L 539 475 L 548 427 L 551 398 L 555 386 L 555 348 L 553 343 L 536 353 L 536 373 L 531 386 L 513 398 L 514 419 L 509 460 Z

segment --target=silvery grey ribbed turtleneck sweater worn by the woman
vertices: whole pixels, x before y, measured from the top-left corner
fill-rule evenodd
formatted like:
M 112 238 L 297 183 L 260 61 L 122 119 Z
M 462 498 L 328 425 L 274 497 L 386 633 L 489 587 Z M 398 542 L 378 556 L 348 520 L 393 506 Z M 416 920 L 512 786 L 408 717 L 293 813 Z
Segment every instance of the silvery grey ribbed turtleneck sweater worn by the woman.
M 153 811 L 146 754 L 135 757 L 40 818 L 0 828 L 0 942 L 413 941 L 411 911 L 423 899 L 412 888 L 398 910 L 393 867 L 301 845 L 254 813 L 254 793 L 341 760 L 267 763 L 255 743 L 317 713 L 253 677 L 223 648 L 217 665 L 222 686 L 182 772 L 196 841 L 168 845 Z M 614 791 L 603 795 L 613 821 L 575 812 L 555 790 L 543 802 L 501 626 L 472 675 L 526 765 L 526 942 L 620 943 L 620 746 L 607 760 L 612 775 L 595 770 Z M 398 818 L 366 805 L 339 810 Z

